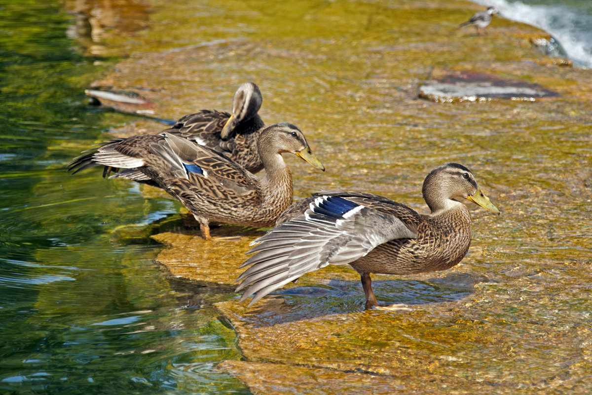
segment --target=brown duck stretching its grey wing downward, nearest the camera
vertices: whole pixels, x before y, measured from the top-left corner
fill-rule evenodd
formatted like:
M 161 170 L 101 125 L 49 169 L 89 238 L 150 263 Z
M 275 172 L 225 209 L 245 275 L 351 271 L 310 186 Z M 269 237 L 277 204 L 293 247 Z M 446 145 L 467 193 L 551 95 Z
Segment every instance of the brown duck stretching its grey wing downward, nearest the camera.
M 387 198 L 363 192 L 323 191 L 297 201 L 276 227 L 255 240 L 255 253 L 240 268 L 240 301 L 249 306 L 276 288 L 327 265 L 349 264 L 361 275 L 366 309 L 378 306 L 371 273 L 412 274 L 445 270 L 461 262 L 471 244 L 466 199 L 499 214 L 469 169 L 447 163 L 423 182 L 431 213 L 419 214 Z

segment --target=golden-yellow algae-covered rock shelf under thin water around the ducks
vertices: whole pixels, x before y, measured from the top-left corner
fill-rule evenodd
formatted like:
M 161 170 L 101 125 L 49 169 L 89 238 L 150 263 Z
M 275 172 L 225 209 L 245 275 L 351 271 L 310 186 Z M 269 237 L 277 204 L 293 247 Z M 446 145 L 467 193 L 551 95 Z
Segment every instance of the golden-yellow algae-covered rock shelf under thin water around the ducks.
M 137 92 L 155 103 L 157 117 L 178 118 L 229 111 L 236 87 L 254 81 L 263 120 L 300 126 L 327 166 L 319 175 L 287 157 L 296 196 L 355 189 L 425 212 L 424 176 L 455 161 L 503 211 L 472 211 L 474 243 L 450 271 L 376 276 L 379 300 L 404 301 L 411 312 L 362 311 L 359 279 L 348 268 L 302 278 L 310 297 L 275 296 L 252 309 L 218 303 L 252 361 L 221 368 L 254 393 L 589 393 L 590 70 L 543 56 L 530 40 L 545 33 L 503 18 L 484 36 L 456 30 L 481 9 L 461 1 L 148 8 L 144 30 L 104 37 L 105 50 L 130 57 L 94 86 Z M 561 96 L 417 99 L 435 69 L 492 73 Z M 231 290 L 248 243 L 262 232 L 216 232 L 240 237 L 208 243 L 191 230 L 162 233 L 154 237 L 169 247 L 157 259 L 175 276 Z

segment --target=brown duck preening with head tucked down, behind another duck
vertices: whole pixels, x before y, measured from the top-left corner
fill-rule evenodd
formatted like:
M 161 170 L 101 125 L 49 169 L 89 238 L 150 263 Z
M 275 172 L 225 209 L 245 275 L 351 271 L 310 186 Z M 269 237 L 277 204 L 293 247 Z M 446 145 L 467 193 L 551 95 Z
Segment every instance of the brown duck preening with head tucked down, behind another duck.
M 264 128 L 258 115 L 262 101 L 259 87 L 246 82 L 234 94 L 232 114 L 201 110 L 185 115 L 164 131 L 210 147 L 256 173 L 263 169 L 257 152 L 257 140 Z

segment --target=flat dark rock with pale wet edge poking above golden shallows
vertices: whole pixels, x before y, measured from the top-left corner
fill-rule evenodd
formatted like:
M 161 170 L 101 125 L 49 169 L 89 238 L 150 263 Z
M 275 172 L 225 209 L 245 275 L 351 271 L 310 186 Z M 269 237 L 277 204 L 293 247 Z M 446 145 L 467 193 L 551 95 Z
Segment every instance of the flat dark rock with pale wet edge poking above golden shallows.
M 557 97 L 556 92 L 538 84 L 517 79 L 503 79 L 481 72 L 436 70 L 432 79 L 419 88 L 419 96 L 435 102 L 484 101 L 493 98 L 534 101 Z

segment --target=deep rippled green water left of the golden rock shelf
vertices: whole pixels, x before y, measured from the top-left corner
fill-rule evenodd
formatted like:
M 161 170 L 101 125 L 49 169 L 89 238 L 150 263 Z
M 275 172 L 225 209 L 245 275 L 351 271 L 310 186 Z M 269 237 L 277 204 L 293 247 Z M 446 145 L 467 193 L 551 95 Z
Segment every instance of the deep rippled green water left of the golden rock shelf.
M 167 278 L 147 237 L 112 237 L 176 226 L 172 201 L 65 171 L 127 120 L 86 105 L 103 66 L 72 24 L 57 1 L 0 2 L 0 393 L 249 393 L 213 372 L 240 358 L 211 309 L 227 290 Z

